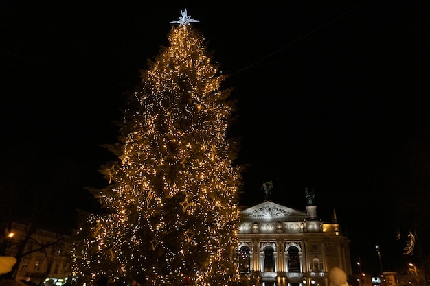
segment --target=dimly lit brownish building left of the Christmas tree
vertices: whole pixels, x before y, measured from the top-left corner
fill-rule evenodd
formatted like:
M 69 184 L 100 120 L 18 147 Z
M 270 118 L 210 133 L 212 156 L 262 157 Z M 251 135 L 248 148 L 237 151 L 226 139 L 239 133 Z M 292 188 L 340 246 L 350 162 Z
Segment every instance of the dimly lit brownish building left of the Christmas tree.
M 28 227 L 26 224 L 12 222 L 6 255 L 16 257 L 24 243 Z M 48 247 L 43 247 L 47 246 Z M 32 281 L 39 285 L 48 278 L 56 285 L 66 282 L 71 267 L 71 237 L 47 230 L 36 230 L 25 246 L 23 258 L 16 268 L 16 280 Z

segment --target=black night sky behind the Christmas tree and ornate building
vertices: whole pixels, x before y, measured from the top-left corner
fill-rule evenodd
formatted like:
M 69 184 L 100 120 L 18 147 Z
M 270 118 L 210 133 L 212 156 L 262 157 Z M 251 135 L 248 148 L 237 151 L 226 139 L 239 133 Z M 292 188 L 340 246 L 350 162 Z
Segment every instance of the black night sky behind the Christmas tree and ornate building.
M 52 2 L 0 4 L 1 164 L 25 158 L 22 188 L 53 186 L 74 206 L 104 184 L 122 93 L 188 8 L 238 99 L 241 203 L 262 202 L 271 180 L 275 202 L 302 210 L 315 187 L 353 264 L 377 270 L 379 242 L 396 267 L 393 198 L 426 198 L 415 190 L 429 184 L 428 1 Z

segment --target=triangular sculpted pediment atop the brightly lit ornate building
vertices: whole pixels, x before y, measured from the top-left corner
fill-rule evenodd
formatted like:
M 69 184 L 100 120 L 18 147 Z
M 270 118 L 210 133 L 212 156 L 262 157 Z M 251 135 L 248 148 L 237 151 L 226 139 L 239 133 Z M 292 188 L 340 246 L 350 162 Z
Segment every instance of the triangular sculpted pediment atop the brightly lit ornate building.
M 242 222 L 285 222 L 306 219 L 307 214 L 271 201 L 251 206 L 240 213 Z

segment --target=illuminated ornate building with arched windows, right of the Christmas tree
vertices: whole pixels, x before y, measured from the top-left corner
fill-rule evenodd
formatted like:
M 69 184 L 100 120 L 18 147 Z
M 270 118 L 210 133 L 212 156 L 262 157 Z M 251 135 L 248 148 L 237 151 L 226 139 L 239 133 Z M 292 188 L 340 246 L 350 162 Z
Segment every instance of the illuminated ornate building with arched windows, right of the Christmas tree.
M 317 206 L 297 211 L 271 200 L 241 212 L 238 231 L 242 277 L 262 286 L 328 286 L 328 272 L 351 274 L 348 237 L 336 214 L 331 223 L 317 217 Z

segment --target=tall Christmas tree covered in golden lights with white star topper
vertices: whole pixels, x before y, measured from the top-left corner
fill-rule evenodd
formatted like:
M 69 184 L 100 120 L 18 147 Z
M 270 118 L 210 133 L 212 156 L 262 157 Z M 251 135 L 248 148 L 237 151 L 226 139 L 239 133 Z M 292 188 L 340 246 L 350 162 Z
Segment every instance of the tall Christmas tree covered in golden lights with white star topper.
M 142 83 L 128 97 L 118 160 L 102 167 L 105 214 L 90 215 L 76 243 L 83 281 L 133 276 L 148 285 L 226 285 L 238 279 L 240 169 L 227 139 L 234 102 L 205 39 L 183 12 Z M 143 281 L 138 281 L 142 283 Z

